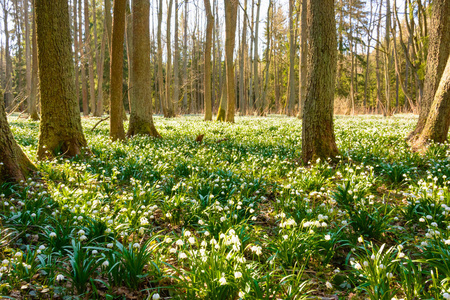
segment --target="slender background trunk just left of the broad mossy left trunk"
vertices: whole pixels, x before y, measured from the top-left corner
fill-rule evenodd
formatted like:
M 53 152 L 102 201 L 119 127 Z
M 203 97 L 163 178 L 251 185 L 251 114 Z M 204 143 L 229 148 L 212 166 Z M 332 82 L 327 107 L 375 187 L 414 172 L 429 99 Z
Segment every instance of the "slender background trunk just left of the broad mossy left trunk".
M 31 66 L 31 90 L 30 90 L 30 117 L 32 120 L 39 120 L 37 111 L 37 97 L 38 97 L 38 85 L 39 85 L 39 64 L 38 64 L 38 49 L 37 49 L 37 33 L 36 33 L 36 0 L 33 0 L 33 23 L 31 25 L 31 46 L 33 49 L 32 66 Z

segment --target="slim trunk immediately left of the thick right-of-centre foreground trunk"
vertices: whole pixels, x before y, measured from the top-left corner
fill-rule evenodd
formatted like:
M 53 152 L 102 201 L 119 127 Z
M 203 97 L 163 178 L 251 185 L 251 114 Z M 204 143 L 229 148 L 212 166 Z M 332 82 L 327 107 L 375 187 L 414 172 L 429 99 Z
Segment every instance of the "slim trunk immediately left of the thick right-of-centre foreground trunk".
M 300 119 L 303 118 L 303 107 L 305 105 L 305 98 L 306 98 L 306 75 L 307 75 L 307 64 L 308 64 L 308 54 L 307 54 L 307 33 L 306 29 L 308 27 L 307 23 L 307 0 L 301 0 L 302 1 L 302 15 L 301 15 L 301 33 L 300 33 L 300 112 L 298 114 L 298 117 Z

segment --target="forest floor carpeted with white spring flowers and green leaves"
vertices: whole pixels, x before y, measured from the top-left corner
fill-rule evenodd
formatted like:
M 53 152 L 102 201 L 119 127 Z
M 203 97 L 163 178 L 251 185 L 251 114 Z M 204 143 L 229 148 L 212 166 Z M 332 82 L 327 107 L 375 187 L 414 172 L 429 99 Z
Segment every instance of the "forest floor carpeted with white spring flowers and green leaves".
M 89 156 L 37 162 L 10 118 L 39 173 L 0 186 L 5 298 L 450 299 L 450 148 L 411 152 L 415 117 L 337 117 L 340 157 L 306 167 L 295 118 L 98 120 Z

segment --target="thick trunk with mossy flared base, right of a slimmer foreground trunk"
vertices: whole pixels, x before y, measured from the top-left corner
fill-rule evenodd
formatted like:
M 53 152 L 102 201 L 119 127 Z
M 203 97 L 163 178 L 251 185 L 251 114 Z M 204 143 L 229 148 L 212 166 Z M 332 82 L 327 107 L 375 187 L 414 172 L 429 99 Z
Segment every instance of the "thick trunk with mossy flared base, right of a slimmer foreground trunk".
M 150 3 L 133 0 L 133 93 L 128 135 L 161 137 L 153 124 L 150 74 Z

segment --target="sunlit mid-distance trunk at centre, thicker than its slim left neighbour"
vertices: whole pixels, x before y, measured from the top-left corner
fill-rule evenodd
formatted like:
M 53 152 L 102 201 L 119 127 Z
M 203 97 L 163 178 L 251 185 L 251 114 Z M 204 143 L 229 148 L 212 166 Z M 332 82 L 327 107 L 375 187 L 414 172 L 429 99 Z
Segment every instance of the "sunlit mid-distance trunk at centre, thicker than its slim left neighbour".
M 227 68 L 227 114 L 225 121 L 234 123 L 236 91 L 234 89 L 234 45 L 236 39 L 238 0 L 225 0 L 225 60 Z

